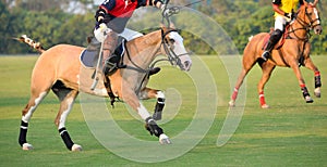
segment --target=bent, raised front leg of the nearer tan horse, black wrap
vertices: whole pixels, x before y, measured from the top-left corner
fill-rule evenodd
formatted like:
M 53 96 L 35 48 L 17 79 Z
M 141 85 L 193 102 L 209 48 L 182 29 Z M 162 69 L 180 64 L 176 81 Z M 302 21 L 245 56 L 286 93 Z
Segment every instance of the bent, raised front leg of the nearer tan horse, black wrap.
M 161 90 L 145 88 L 140 92 L 141 99 L 157 99 L 157 103 L 155 106 L 155 112 L 153 114 L 153 118 L 155 120 L 161 120 L 162 117 L 162 110 L 165 107 L 165 93 Z

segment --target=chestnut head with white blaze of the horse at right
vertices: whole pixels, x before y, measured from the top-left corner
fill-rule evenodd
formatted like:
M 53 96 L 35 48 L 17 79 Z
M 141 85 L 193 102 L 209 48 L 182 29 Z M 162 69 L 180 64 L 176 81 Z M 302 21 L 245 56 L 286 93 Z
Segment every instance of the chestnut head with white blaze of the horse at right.
M 316 1 L 315 3 L 307 3 L 304 1 L 304 5 L 301 7 L 299 16 L 303 18 L 303 22 L 306 23 L 310 28 L 314 29 L 316 35 L 320 35 L 323 33 L 319 11 L 316 8 Z

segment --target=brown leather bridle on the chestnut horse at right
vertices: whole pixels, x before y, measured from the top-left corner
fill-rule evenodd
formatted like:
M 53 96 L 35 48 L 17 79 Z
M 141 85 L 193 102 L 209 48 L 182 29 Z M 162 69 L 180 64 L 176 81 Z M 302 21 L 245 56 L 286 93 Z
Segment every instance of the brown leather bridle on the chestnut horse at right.
M 308 13 L 308 12 L 307 12 L 307 8 L 314 8 L 314 7 L 305 7 L 305 13 L 304 13 L 304 14 L 305 14 L 305 16 L 308 18 L 308 23 L 305 21 L 305 18 L 301 18 L 301 17 L 299 17 L 299 16 L 296 15 L 295 21 L 296 21 L 302 27 L 295 28 L 295 29 L 294 29 L 293 24 L 291 24 L 291 25 L 290 25 L 290 29 L 289 29 L 289 31 L 288 31 L 289 35 L 290 35 L 290 34 L 293 34 L 298 40 L 302 40 L 302 41 L 308 41 L 308 39 L 310 39 L 311 36 L 312 36 L 312 35 L 310 34 L 310 30 L 311 30 L 312 28 L 316 27 L 316 26 L 320 26 L 320 17 L 319 17 L 319 15 L 318 15 L 317 18 L 313 20 L 313 18 L 311 17 L 312 13 Z M 295 21 L 294 21 L 294 22 L 295 22 Z M 317 24 L 315 24 L 316 22 L 317 22 Z M 305 36 L 304 38 L 303 38 L 303 37 L 299 37 L 299 36 L 295 34 L 296 30 L 302 30 L 302 29 L 305 29 L 305 31 L 306 31 L 306 36 Z

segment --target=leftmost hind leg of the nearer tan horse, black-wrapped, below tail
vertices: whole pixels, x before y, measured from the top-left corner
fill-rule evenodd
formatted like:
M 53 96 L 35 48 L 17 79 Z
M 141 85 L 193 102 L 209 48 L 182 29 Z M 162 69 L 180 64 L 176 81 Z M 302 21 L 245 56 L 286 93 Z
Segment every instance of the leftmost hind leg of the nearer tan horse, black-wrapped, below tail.
M 21 123 L 19 143 L 23 150 L 32 150 L 33 149 L 32 144 L 29 144 L 26 140 L 28 121 L 31 120 L 32 115 L 35 112 L 36 107 L 45 99 L 45 97 L 47 95 L 48 92 L 49 92 L 49 90 L 43 91 L 41 89 L 38 89 L 38 88 L 32 89 L 32 94 L 31 94 L 29 101 L 22 112 L 23 116 L 22 116 L 22 123 Z

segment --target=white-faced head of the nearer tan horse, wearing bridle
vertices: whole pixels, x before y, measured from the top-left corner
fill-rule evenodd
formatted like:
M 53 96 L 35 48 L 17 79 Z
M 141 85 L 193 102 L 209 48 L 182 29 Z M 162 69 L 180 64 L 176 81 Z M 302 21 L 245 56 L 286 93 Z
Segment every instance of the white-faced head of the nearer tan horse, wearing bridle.
M 192 60 L 186 52 L 183 43 L 183 38 L 174 28 L 162 28 L 162 49 L 164 53 L 168 55 L 170 63 L 178 65 L 182 70 L 190 70 Z

